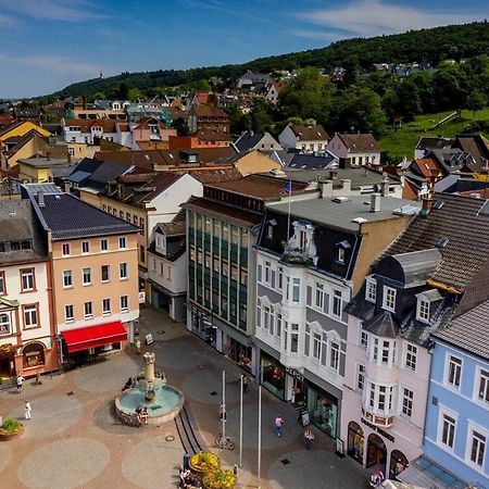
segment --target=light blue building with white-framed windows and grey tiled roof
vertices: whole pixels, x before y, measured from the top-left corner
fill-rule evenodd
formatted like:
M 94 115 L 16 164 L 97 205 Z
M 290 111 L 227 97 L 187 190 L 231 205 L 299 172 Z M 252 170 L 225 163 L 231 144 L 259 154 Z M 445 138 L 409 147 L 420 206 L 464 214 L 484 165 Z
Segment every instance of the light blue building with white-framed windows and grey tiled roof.
M 459 315 L 432 340 L 425 459 L 464 487 L 489 489 L 489 301 Z

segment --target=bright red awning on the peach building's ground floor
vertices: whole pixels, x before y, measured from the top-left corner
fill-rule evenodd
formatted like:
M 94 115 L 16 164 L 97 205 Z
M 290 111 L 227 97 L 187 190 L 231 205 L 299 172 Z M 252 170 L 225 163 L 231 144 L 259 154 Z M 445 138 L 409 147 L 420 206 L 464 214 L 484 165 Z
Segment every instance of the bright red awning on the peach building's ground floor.
M 126 329 L 120 321 L 99 326 L 90 326 L 88 328 L 62 331 L 61 335 L 66 342 L 68 353 L 117 343 L 127 339 Z

